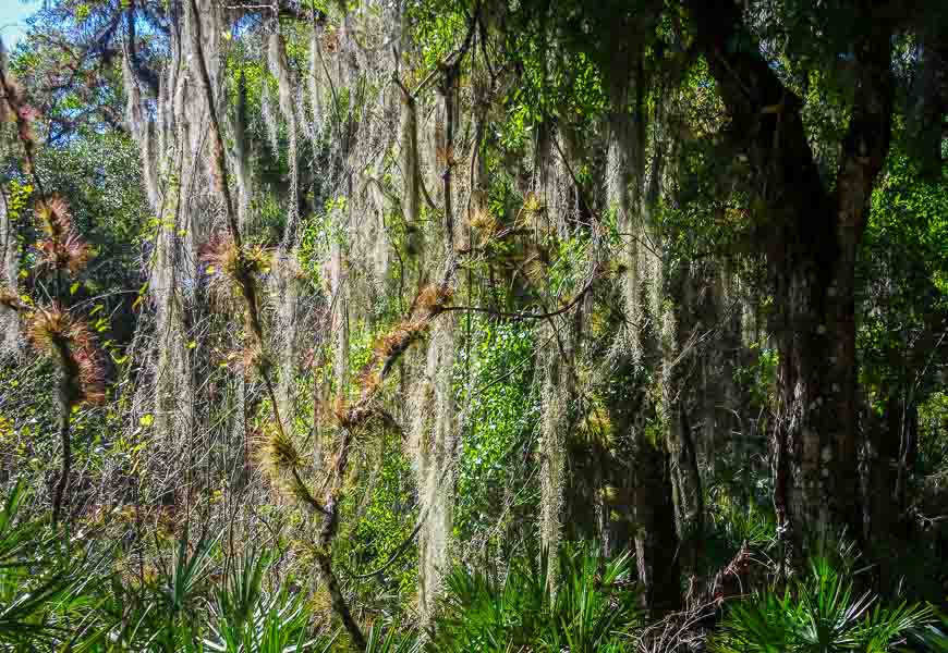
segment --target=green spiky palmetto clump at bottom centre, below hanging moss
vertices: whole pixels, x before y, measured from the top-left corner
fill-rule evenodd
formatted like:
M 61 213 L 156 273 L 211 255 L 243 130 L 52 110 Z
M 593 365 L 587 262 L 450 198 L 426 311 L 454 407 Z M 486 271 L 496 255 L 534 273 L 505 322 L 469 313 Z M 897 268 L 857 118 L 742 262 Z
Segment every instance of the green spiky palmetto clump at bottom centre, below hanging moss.
M 539 556 L 546 560 L 548 556 Z M 560 584 L 537 557 L 511 560 L 497 574 L 455 569 L 447 580 L 432 651 L 608 653 L 625 650 L 641 625 L 630 554 L 607 560 L 588 544 L 566 545 L 555 558 Z

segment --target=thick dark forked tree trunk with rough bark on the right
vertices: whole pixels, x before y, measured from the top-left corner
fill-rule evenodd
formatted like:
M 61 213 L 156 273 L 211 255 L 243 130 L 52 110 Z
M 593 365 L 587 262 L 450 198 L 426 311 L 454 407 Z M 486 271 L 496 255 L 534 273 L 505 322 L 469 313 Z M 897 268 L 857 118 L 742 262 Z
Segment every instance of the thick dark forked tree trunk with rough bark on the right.
M 697 42 L 730 115 L 730 143 L 770 224 L 762 226 L 776 315 L 779 364 L 775 433 L 781 527 L 848 525 L 859 535 L 853 270 L 875 176 L 888 151 L 892 90 L 890 25 L 853 44 L 855 88 L 835 193 L 823 185 L 800 115 L 801 100 L 755 50 L 730 0 L 688 3 Z M 859 11 L 866 12 L 860 3 Z M 758 215 L 761 220 L 763 215 Z

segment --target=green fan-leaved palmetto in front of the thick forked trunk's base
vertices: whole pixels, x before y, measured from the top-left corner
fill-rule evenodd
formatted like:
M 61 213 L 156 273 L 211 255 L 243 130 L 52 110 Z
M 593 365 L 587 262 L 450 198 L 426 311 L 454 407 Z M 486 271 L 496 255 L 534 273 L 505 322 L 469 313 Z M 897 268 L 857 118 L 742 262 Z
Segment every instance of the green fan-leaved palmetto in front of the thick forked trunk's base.
M 757 592 L 728 609 L 710 640 L 716 653 L 863 651 L 882 653 L 932 624 L 934 611 L 900 603 L 883 607 L 858 595 L 853 580 L 826 559 L 814 559 L 806 577 L 782 594 Z

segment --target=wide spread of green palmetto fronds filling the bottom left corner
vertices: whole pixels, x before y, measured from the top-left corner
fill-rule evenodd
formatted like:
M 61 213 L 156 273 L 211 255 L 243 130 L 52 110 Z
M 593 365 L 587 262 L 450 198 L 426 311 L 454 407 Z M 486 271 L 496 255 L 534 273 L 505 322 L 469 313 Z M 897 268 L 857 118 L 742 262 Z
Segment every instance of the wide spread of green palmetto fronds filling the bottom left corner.
M 305 595 L 266 589 L 276 556 L 227 565 L 208 538 L 180 538 L 168 565 L 126 575 L 114 549 L 95 551 L 24 514 L 16 484 L 0 512 L 0 648 L 74 651 L 328 652 Z M 68 644 L 66 644 L 68 643 Z

